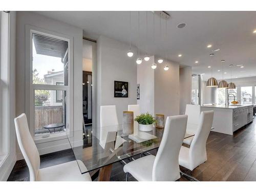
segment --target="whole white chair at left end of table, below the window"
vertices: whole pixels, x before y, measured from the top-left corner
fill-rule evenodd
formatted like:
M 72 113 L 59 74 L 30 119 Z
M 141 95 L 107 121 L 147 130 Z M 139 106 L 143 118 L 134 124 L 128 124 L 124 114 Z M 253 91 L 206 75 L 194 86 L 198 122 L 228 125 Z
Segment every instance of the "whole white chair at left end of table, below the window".
M 14 124 L 20 151 L 29 167 L 30 181 L 92 181 L 89 173 L 81 174 L 79 167 L 87 168 L 80 160 L 39 169 L 40 157 L 29 132 L 26 115 L 23 113 L 16 117 Z

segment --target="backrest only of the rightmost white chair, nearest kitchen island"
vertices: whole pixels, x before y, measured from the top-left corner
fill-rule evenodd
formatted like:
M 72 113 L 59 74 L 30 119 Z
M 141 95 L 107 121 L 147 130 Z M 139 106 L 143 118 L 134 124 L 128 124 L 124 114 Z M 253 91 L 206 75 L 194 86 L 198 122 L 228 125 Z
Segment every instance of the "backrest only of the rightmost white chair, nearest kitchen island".
M 207 160 L 206 141 L 213 119 L 214 111 L 201 112 L 198 130 L 189 148 L 189 161 L 193 169 Z

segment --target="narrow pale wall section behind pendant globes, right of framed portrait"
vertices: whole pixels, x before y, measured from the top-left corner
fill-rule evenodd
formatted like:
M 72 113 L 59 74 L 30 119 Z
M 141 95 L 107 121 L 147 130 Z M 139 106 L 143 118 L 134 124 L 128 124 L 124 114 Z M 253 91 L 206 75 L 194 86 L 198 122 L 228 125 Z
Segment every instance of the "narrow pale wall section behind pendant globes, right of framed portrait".
M 137 65 L 137 83 L 140 84 L 140 99 L 137 104 L 140 105 L 140 113 L 155 114 L 154 111 L 154 86 L 155 72 L 151 68 L 154 56 L 150 57 L 149 61 L 142 61 L 141 65 Z

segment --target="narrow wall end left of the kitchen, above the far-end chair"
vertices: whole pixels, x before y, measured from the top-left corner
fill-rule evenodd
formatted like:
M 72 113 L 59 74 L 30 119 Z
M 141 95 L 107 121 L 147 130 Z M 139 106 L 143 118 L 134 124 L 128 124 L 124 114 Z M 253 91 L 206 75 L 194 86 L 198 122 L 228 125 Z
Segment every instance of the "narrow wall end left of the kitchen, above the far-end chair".
M 180 68 L 180 114 L 185 114 L 186 104 L 191 104 L 191 67 Z

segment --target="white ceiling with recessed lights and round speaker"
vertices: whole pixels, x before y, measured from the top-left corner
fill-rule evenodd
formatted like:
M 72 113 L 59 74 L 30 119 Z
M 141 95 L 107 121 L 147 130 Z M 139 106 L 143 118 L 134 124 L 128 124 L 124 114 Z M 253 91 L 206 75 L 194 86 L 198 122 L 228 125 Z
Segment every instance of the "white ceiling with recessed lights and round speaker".
M 39 14 L 55 18 L 62 22 L 80 27 L 84 35 L 97 39 L 105 35 L 129 43 L 130 27 L 127 11 L 43 11 Z M 153 42 L 153 13 L 148 13 L 148 38 L 146 39 L 146 12 L 140 12 L 140 48 L 181 65 L 193 66 L 193 73 L 205 73 L 209 77 L 207 66 L 213 66 L 214 76 L 222 78 L 221 59 L 225 59 L 225 79 L 230 78 L 230 64 L 233 64 L 233 77 L 256 76 L 256 12 L 244 11 L 167 11 L 167 40 L 164 40 L 165 21 L 162 20 L 162 40 L 159 34 L 159 16 L 155 15 L 155 43 Z M 132 45 L 138 45 L 138 12 L 132 12 Z M 179 23 L 186 27 L 178 29 Z M 212 48 L 207 49 L 208 44 Z M 127 47 L 127 50 L 129 47 Z M 220 49 L 211 60 L 212 50 Z M 178 57 L 182 54 L 182 57 Z M 199 61 L 196 66 L 195 61 Z M 244 65 L 244 68 L 236 67 Z

